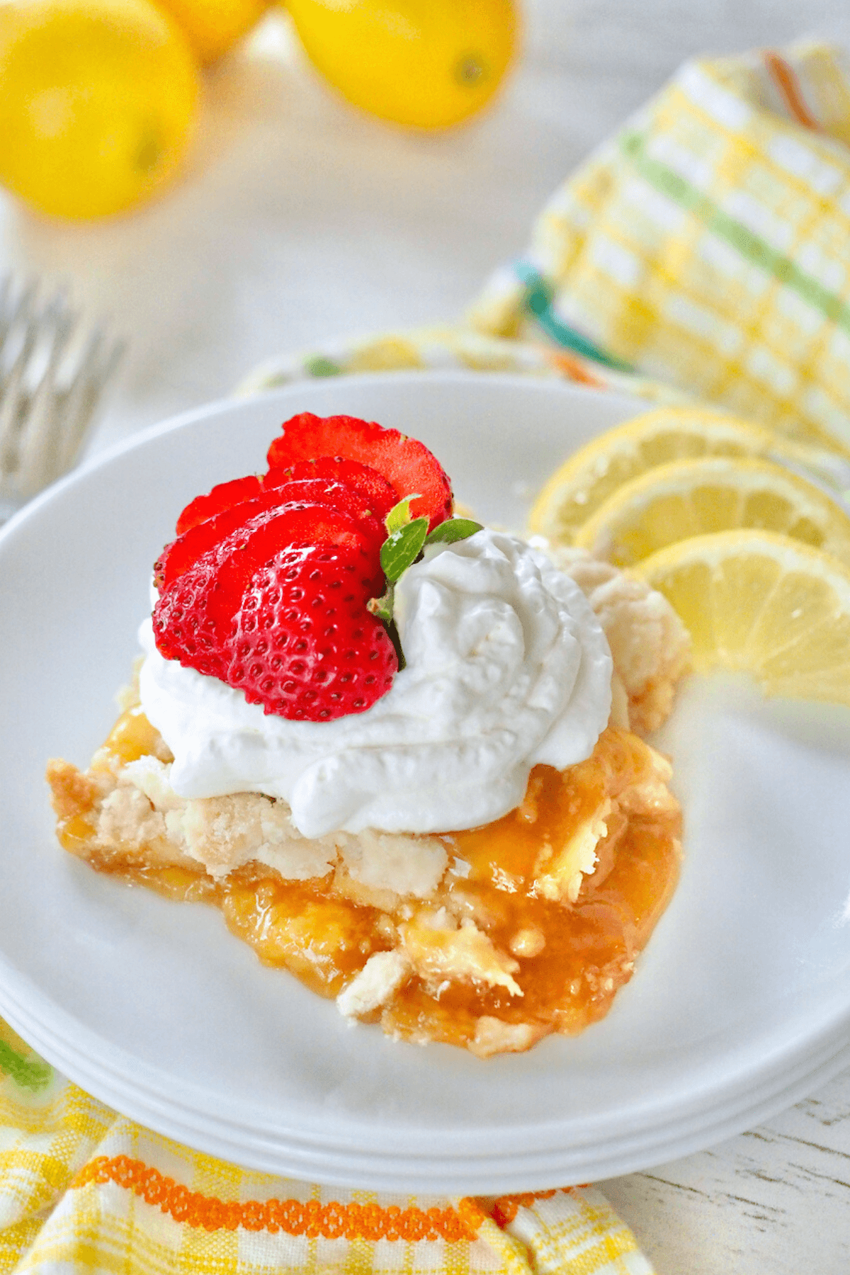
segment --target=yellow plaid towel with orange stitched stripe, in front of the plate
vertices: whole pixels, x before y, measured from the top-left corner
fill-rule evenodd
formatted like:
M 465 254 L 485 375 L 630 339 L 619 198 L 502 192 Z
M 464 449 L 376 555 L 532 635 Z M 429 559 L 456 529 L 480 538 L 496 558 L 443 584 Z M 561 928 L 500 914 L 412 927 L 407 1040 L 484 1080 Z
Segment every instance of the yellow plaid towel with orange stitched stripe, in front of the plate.
M 0 1020 L 0 1272 L 652 1275 L 593 1187 L 496 1200 L 320 1187 L 159 1137 Z

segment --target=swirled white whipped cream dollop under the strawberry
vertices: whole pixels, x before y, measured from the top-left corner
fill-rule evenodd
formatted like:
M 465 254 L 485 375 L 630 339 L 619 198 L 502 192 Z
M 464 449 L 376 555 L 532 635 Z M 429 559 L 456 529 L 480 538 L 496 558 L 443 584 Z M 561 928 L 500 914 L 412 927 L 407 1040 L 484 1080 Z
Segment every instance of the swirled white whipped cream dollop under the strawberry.
M 140 630 L 141 705 L 175 755 L 182 797 L 260 792 L 305 836 L 433 833 L 500 819 L 531 766 L 590 755 L 612 659 L 585 595 L 539 551 L 484 529 L 435 544 L 401 576 L 407 667 L 367 711 L 291 722 L 155 649 Z

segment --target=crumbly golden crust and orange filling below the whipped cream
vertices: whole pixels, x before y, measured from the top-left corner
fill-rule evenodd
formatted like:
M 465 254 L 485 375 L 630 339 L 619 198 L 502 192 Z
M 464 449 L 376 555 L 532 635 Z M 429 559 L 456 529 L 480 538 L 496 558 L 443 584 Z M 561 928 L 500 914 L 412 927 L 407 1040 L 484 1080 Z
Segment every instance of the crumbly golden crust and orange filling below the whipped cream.
M 87 770 L 48 764 L 61 844 L 99 871 L 217 904 L 261 960 L 396 1038 L 488 1057 L 584 1029 L 631 978 L 678 877 L 669 762 L 624 727 L 660 724 L 688 644 L 664 599 L 566 552 L 557 565 L 603 620 L 619 697 L 591 757 L 537 766 L 505 819 L 307 839 L 283 801 L 182 798 L 131 687 Z

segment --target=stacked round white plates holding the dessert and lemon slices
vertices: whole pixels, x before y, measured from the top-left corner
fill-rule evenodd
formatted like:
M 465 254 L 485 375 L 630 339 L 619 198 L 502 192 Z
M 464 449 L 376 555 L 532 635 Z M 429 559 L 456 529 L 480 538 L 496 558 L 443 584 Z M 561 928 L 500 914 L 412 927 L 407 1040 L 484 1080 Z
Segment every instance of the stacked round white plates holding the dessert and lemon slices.
M 646 1168 L 850 1061 L 850 713 L 692 682 L 663 746 L 686 810 L 679 889 L 609 1016 L 486 1062 L 349 1028 L 219 913 L 89 871 L 52 834 L 48 756 L 108 731 L 148 574 L 182 505 L 263 467 L 296 411 L 422 437 L 457 495 L 521 525 L 576 445 L 644 408 L 465 374 L 354 377 L 204 408 L 60 483 L 0 537 L 0 1012 L 71 1079 L 259 1169 L 501 1192 Z

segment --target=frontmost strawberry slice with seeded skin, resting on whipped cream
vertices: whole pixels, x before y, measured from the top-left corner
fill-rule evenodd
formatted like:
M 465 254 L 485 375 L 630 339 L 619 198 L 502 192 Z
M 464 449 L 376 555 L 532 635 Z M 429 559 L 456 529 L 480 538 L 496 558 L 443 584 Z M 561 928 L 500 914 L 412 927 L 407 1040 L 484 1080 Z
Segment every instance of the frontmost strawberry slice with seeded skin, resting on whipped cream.
M 266 713 L 326 722 L 364 713 L 389 691 L 398 657 L 370 615 L 367 558 L 348 546 L 284 550 L 245 590 L 231 686 Z

